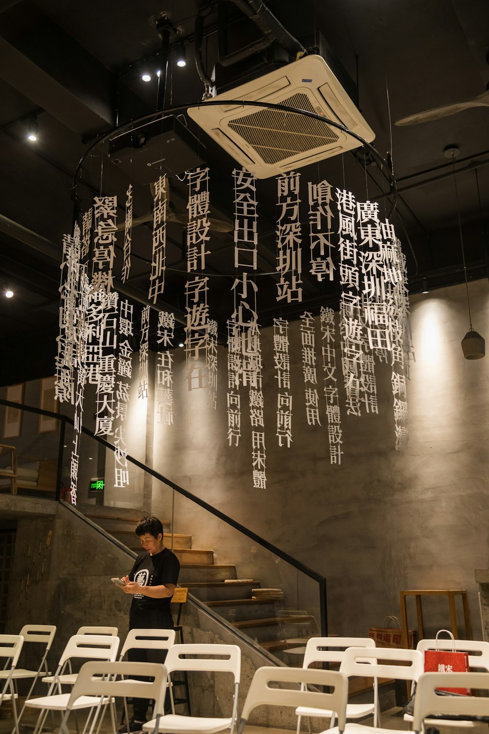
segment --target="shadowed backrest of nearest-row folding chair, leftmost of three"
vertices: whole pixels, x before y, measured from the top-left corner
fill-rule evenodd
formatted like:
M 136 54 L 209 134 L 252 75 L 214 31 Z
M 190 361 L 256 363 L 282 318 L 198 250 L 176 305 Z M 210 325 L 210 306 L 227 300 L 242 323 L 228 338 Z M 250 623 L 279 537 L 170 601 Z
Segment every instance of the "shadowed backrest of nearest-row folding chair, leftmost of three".
M 153 680 L 132 680 L 139 675 Z M 111 680 L 123 676 L 131 680 Z M 166 693 L 166 667 L 161 663 L 89 661 L 81 666 L 67 708 L 80 696 L 120 696 L 155 700 L 153 716 L 162 716 Z

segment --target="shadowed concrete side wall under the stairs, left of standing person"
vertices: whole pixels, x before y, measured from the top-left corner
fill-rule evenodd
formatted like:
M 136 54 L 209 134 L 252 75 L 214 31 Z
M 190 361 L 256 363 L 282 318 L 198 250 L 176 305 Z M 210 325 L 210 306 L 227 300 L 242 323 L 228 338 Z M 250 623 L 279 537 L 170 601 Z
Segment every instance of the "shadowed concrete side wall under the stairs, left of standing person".
M 56 666 L 67 640 L 82 625 L 116 626 L 125 639 L 130 600 L 110 579 L 127 573 L 132 561 L 62 504 L 49 504 L 51 516 L 18 516 L 8 632 L 18 633 L 26 624 L 56 625 L 50 655 Z

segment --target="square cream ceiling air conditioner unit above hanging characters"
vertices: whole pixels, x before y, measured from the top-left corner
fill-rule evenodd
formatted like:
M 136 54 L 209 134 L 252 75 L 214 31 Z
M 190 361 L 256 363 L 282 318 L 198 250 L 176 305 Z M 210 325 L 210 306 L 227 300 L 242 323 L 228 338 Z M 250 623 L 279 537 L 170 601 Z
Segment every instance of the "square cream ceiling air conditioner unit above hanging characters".
M 315 112 L 371 142 L 375 134 L 320 56 L 306 56 L 188 109 L 188 115 L 257 178 L 269 178 L 359 148 L 322 120 L 265 107 L 216 101 L 283 104 Z

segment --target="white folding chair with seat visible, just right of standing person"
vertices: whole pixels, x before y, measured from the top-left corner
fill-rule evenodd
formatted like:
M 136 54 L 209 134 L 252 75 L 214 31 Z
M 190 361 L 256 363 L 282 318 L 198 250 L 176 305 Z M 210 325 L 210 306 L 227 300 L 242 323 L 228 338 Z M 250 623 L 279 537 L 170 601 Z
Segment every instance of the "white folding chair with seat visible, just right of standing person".
M 185 655 L 199 655 L 196 658 L 185 658 Z M 214 655 L 221 657 L 216 659 Z M 241 650 L 235 644 L 174 644 L 166 655 L 165 666 L 168 670 L 170 695 L 172 697 L 172 711 L 174 701 L 171 675 L 174 671 L 190 672 L 229 672 L 234 679 L 234 698 L 231 716 L 212 718 L 207 716 L 180 716 L 169 713 L 162 716 L 158 724 L 158 731 L 168 734 L 214 734 L 229 729 L 233 734 L 238 723 L 238 690 L 241 671 Z M 152 719 L 143 725 L 143 731 L 155 729 L 155 720 Z

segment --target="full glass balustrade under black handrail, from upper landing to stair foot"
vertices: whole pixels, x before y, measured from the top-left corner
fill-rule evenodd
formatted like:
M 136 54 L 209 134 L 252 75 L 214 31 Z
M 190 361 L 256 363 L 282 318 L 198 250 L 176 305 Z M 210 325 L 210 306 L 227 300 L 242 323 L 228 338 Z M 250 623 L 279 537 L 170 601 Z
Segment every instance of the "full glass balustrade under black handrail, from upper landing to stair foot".
M 4 410 L 0 404 L 0 421 Z M 18 494 L 56 498 L 60 466 L 59 498 L 71 502 L 73 425 L 51 417 L 49 431 L 40 430 L 43 416 L 19 410 L 19 435 L 3 439 L 0 491 L 11 491 L 13 452 L 18 476 L 37 471 L 35 486 L 17 482 Z M 163 521 L 165 545 L 180 559 L 180 585 L 251 644 L 287 665 L 301 664 L 307 639 L 326 633 L 326 582 L 320 575 L 132 457 L 128 483 L 118 487 L 114 450 L 87 432 L 78 440 L 78 457 L 78 511 L 137 552 L 134 527 L 151 508 Z

